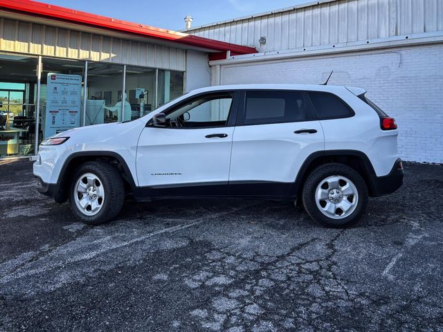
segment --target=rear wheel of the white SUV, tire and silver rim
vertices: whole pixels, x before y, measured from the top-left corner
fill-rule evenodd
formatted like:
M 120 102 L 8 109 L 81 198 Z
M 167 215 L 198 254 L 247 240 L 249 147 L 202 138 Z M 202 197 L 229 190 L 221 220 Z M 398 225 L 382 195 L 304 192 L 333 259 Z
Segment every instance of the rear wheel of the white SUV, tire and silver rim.
M 330 163 L 309 174 L 302 199 L 312 219 L 323 225 L 342 227 L 363 214 L 368 203 L 368 187 L 351 167 Z

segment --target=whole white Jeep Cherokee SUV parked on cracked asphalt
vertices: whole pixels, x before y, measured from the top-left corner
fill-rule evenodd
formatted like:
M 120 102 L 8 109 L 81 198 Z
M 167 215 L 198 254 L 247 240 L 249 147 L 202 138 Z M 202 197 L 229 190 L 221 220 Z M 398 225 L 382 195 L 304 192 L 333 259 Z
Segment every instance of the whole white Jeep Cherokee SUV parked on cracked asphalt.
M 213 86 L 138 120 L 48 138 L 34 174 L 40 193 L 69 201 L 93 225 L 113 219 L 132 194 L 300 198 L 312 219 L 342 226 L 361 216 L 368 196 L 401 186 L 397 134 L 363 89 Z

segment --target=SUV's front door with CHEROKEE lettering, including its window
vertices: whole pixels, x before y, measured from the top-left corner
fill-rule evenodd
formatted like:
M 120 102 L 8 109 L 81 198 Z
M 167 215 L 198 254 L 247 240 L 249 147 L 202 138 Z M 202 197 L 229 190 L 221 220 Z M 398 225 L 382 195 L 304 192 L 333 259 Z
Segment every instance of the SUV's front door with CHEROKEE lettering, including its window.
M 148 123 L 136 158 L 142 196 L 228 194 L 235 99 L 230 92 L 198 95 L 164 111 L 165 127 Z

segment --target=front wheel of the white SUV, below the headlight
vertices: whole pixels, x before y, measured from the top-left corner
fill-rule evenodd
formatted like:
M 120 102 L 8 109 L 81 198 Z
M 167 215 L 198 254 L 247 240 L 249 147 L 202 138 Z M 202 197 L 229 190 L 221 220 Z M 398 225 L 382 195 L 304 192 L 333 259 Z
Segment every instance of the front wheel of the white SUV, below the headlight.
M 106 162 L 84 163 L 75 170 L 69 204 L 73 214 L 89 225 L 114 219 L 125 199 L 125 186 L 117 169 Z

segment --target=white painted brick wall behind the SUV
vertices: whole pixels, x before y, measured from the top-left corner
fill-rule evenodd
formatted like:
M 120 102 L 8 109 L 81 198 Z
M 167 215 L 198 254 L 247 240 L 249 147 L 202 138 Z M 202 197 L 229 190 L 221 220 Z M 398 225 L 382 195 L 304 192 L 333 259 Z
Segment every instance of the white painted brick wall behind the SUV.
M 221 66 L 221 84 L 360 86 L 399 125 L 404 160 L 443 163 L 443 44 Z M 212 68 L 213 84 L 215 67 Z

